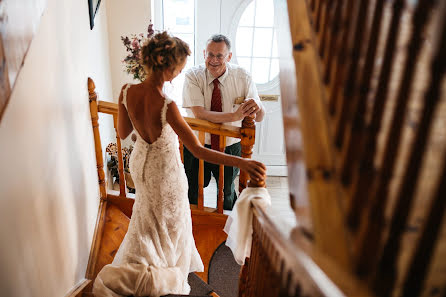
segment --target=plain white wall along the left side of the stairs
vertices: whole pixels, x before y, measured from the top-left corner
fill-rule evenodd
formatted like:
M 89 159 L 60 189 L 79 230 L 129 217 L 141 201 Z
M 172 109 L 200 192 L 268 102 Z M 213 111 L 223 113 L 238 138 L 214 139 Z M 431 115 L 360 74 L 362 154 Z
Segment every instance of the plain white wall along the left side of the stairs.
M 108 1 L 103 1 L 108 2 Z M 85 275 L 98 210 L 87 77 L 112 97 L 106 9 L 48 0 L 0 122 L 2 296 L 64 296 Z

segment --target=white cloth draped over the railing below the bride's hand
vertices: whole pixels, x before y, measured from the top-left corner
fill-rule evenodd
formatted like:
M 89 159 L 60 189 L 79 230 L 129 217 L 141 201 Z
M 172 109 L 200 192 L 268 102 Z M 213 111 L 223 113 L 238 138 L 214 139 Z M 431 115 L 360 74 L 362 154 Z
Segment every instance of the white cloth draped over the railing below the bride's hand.
M 266 188 L 246 188 L 240 194 L 229 215 L 224 231 L 228 234 L 226 245 L 232 250 L 235 261 L 239 265 L 251 255 L 252 243 L 252 207 L 255 199 L 262 208 L 271 205 L 271 197 Z

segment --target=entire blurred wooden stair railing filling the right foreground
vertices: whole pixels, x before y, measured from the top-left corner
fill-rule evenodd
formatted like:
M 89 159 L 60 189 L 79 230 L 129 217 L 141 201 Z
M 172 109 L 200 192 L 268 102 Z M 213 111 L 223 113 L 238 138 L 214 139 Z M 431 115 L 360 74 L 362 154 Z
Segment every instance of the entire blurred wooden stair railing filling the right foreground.
M 446 2 L 275 0 L 275 17 L 312 229 L 254 203 L 239 295 L 446 296 Z

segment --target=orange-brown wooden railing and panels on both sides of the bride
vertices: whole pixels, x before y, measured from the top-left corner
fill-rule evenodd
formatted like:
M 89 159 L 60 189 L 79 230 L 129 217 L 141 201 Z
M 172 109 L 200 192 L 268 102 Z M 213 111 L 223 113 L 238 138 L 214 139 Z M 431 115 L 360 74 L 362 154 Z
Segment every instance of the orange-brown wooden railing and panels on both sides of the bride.
M 87 267 L 86 278 L 91 282 L 82 292 L 91 294 L 92 285 L 99 271 L 107 264 L 110 264 L 127 232 L 128 224 L 132 216 L 134 199 L 126 194 L 125 178 L 119 184 L 119 193 L 107 191 L 105 186 L 105 172 L 103 165 L 102 144 L 99 132 L 99 113 L 113 116 L 113 123 L 116 130 L 116 141 L 118 147 L 118 171 L 119 176 L 124 176 L 123 156 L 121 151 L 121 139 L 117 132 L 117 104 L 97 101 L 95 85 L 92 79 L 88 79 L 88 91 L 90 101 L 90 111 L 92 118 L 93 134 L 95 138 L 96 161 L 98 168 L 98 179 L 100 188 L 100 205 L 96 229 L 90 254 L 90 260 Z M 246 118 L 241 128 L 217 125 L 207 121 L 186 118 L 193 130 L 198 131 L 199 140 L 204 144 L 205 132 L 220 135 L 220 150 L 224 150 L 225 137 L 238 137 L 241 139 L 242 156 L 249 158 L 252 154 L 252 148 L 255 141 L 255 126 L 252 118 Z M 182 143 L 180 142 L 180 152 L 182 156 Z M 195 238 L 195 244 L 200 253 L 204 264 L 204 272 L 196 273 L 204 282 L 208 279 L 209 263 L 215 250 L 226 240 L 226 233 L 223 228 L 226 223 L 227 215 L 223 214 L 223 189 L 220 189 L 217 198 L 217 208 L 204 207 L 203 198 L 203 160 L 199 161 L 199 196 L 198 204 L 191 205 L 192 229 Z M 220 166 L 220 179 L 224 178 L 223 165 Z M 248 181 L 246 172 L 240 172 L 239 178 L 240 191 L 243 190 Z M 212 293 L 217 296 L 216 293 Z

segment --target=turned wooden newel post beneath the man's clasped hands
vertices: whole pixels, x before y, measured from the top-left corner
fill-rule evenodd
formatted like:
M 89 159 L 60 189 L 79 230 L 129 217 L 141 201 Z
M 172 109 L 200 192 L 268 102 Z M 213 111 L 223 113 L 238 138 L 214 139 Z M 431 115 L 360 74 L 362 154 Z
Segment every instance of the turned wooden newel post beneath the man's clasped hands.
M 242 128 L 240 129 L 240 134 L 242 135 L 241 146 L 242 146 L 242 158 L 251 158 L 252 148 L 254 147 L 254 142 L 256 138 L 256 126 L 254 122 L 254 117 L 246 117 L 242 122 Z M 240 170 L 239 176 L 239 192 L 241 193 L 247 186 L 248 173 Z

